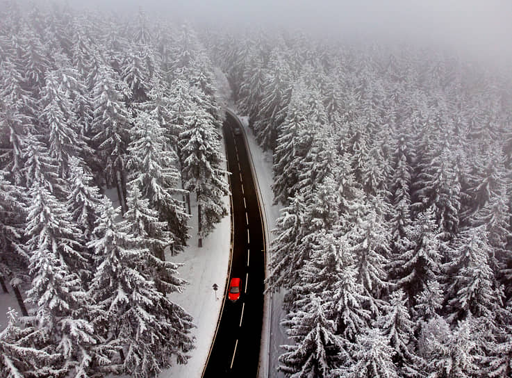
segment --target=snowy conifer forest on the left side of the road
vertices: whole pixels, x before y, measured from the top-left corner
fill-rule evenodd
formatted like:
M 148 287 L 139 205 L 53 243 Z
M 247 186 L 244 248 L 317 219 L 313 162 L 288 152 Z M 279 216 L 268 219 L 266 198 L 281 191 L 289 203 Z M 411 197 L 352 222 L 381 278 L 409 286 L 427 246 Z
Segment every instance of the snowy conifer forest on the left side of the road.
M 185 282 L 165 252 L 208 235 L 229 190 L 204 47 L 142 11 L 0 11 L 0 284 L 21 311 L 1 324 L 1 377 L 186 363 L 195 325 L 167 297 Z

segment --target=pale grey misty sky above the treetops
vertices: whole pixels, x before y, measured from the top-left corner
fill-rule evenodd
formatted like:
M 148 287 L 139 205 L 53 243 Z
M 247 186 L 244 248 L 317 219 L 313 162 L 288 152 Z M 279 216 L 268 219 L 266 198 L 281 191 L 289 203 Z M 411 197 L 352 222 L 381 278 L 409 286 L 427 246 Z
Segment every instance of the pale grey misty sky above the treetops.
M 75 0 L 77 1 L 77 0 Z M 94 0 L 105 6 L 185 15 L 220 24 L 304 27 L 327 35 L 363 35 L 456 44 L 477 56 L 512 61 L 511 0 Z

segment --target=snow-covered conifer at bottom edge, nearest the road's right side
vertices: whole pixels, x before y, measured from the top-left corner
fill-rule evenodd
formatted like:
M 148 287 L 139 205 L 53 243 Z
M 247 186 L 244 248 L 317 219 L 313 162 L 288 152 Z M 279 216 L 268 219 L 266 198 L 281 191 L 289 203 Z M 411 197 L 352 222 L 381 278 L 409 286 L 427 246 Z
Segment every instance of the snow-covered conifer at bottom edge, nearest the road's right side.
M 329 320 L 322 300 L 316 295 L 301 299 L 297 312 L 289 313 L 281 324 L 288 328 L 294 345 L 283 345 L 279 370 L 288 377 L 330 377 L 338 361 L 347 358 L 336 325 Z

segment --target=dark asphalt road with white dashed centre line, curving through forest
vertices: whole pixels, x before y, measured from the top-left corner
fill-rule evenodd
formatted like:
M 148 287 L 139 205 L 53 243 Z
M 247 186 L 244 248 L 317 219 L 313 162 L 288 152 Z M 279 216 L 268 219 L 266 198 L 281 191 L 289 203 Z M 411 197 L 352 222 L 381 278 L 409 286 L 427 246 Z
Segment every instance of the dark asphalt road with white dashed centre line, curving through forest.
M 203 377 L 257 377 L 263 324 L 263 279 L 265 257 L 263 223 L 249 154 L 244 135 L 234 135 L 242 128 L 227 114 L 222 127 L 226 143 L 228 169 L 233 197 L 232 277 L 242 280 L 237 302 L 224 298 L 224 306 L 213 348 Z M 222 297 L 222 294 L 221 294 Z

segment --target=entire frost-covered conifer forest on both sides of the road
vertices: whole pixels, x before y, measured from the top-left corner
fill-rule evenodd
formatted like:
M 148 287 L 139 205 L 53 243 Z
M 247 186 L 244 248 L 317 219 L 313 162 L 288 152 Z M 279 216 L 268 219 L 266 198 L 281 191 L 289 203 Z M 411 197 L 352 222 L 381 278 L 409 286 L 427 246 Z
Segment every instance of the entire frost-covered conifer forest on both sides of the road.
M 186 283 L 165 253 L 229 211 L 215 69 L 273 156 L 281 373 L 510 377 L 510 70 L 14 0 L 0 7 L 0 284 L 20 313 L 0 324 L 1 377 L 187 362 L 195 324 L 167 297 Z

